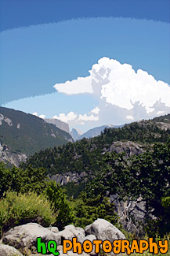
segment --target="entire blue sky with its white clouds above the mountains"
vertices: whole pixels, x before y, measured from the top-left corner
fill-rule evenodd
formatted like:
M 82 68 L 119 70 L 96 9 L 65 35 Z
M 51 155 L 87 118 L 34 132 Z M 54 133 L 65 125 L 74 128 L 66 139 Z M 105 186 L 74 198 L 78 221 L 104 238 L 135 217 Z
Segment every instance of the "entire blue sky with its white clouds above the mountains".
M 169 113 L 168 7 L 143 0 L 1 1 L 1 105 L 82 131 Z M 92 65 L 100 59 L 97 72 L 106 77 L 96 81 Z M 138 69 L 147 75 L 137 76 Z M 90 84 L 91 92 L 74 89 Z

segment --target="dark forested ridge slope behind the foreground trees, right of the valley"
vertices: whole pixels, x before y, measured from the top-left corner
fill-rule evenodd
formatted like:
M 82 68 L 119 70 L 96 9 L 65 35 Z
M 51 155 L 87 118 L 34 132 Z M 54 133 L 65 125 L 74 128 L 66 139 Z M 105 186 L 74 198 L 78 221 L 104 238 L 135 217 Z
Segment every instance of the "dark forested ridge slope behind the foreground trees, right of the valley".
M 146 150 L 152 143 L 165 143 L 170 135 L 170 114 L 151 121 L 126 124 L 122 128 L 106 128 L 101 135 L 92 139 L 81 139 L 61 147 L 41 150 L 27 159 L 26 167 L 43 167 L 49 175 L 77 172 L 93 173 L 96 161 L 103 158 L 107 151 L 114 150 L 114 142 L 134 142 L 136 147 Z

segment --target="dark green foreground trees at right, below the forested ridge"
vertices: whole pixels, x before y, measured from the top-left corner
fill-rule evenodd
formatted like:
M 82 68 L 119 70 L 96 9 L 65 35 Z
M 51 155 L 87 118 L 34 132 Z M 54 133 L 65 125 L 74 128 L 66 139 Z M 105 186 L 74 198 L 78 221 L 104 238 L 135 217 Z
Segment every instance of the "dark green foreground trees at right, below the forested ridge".
M 86 186 L 89 197 L 118 194 L 121 199 L 146 201 L 148 235 L 163 236 L 170 232 L 170 139 L 155 144 L 151 150 L 125 159 L 123 154 L 108 153 L 99 162 L 96 175 Z M 150 213 L 157 221 L 150 220 Z

